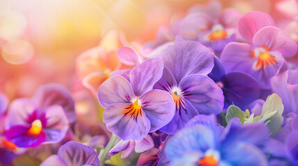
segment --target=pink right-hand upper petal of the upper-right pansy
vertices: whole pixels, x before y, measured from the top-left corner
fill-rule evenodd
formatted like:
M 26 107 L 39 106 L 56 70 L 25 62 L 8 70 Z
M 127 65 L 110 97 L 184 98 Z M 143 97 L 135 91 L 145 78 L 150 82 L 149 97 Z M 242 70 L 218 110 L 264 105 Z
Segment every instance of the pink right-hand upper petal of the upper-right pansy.
M 258 30 L 253 39 L 254 46 L 267 46 L 278 50 L 283 57 L 292 57 L 297 53 L 297 44 L 279 28 L 267 26 Z

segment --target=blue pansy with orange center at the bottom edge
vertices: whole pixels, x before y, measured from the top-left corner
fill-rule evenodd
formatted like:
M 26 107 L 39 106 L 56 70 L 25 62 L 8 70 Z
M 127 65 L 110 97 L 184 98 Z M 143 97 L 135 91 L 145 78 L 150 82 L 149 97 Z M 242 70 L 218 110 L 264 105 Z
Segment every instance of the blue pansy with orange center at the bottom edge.
M 167 140 L 167 158 L 160 158 L 160 162 L 169 162 L 170 165 L 265 166 L 267 158 L 258 145 L 262 145 L 268 135 L 269 130 L 263 123 L 241 125 L 238 118 L 233 118 L 223 130 L 214 116 L 199 115 Z

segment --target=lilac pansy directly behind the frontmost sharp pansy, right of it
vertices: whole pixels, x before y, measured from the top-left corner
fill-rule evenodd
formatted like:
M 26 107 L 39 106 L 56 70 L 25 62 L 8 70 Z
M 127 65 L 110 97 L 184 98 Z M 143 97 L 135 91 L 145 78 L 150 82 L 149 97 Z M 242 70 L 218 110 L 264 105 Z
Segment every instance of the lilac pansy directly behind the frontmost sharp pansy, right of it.
M 173 120 L 161 131 L 174 134 L 199 113 L 218 114 L 222 111 L 222 90 L 206 76 L 213 68 L 213 55 L 208 48 L 199 42 L 177 37 L 174 46 L 160 56 L 165 67 L 163 77 L 154 89 L 169 92 L 176 106 Z

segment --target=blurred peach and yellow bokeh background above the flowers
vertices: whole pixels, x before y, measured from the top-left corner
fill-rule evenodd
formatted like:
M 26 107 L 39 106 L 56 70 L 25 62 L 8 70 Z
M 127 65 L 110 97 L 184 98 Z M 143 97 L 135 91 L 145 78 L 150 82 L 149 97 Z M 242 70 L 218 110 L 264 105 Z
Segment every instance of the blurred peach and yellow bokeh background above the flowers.
M 13 100 L 31 97 L 41 84 L 57 82 L 76 93 L 81 87 L 75 72 L 76 57 L 99 45 L 109 30 L 119 30 L 128 42 L 142 46 L 155 39 L 161 25 L 169 26 L 185 16 L 194 3 L 205 2 L 0 0 L 0 91 Z M 224 0 L 222 4 L 242 13 L 268 12 L 276 20 L 297 15 L 297 9 L 279 12 L 276 3 L 284 2 Z

